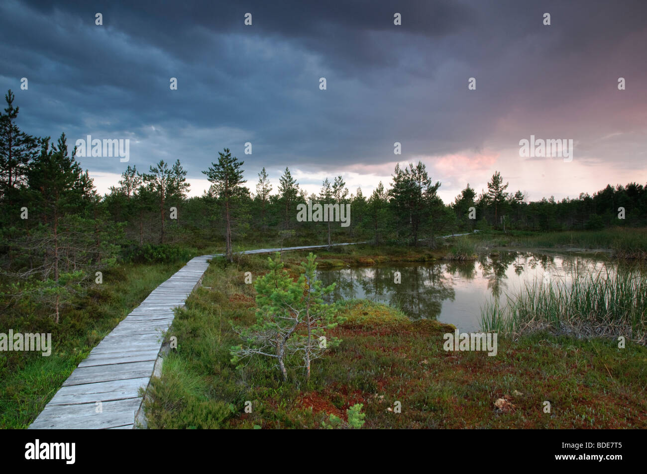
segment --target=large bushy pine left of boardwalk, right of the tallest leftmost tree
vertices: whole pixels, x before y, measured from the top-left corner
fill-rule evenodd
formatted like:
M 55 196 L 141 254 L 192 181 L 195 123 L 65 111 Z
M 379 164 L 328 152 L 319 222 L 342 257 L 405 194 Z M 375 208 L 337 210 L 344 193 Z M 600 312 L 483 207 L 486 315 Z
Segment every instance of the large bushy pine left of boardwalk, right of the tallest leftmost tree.
M 75 153 L 76 147 L 68 154 L 65 134 L 52 147 L 43 140 L 27 171 L 30 212 L 39 224 L 16 242 L 16 251 L 28 257 L 14 261 L 13 274 L 25 281 L 23 296 L 51 306 L 56 323 L 94 272 L 115 263 L 117 251 L 115 228 L 103 220 L 94 184 Z

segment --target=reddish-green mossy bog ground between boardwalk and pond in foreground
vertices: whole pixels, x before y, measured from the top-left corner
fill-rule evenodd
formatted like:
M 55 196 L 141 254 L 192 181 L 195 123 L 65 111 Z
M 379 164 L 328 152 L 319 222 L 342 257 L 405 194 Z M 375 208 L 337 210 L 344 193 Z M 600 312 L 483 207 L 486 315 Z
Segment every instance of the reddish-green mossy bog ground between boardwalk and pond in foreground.
M 337 303 L 348 319 L 331 336 L 342 343 L 313 365 L 309 382 L 302 371 L 291 371 L 283 383 L 265 359 L 237 368 L 229 349 L 240 339 L 230 321 L 255 321 L 255 291 L 244 272 L 267 271 L 267 255 L 245 258 L 238 267 L 211 264 L 208 288 L 197 289 L 177 311 L 168 335 L 177 336 L 178 347 L 149 387 L 150 428 L 321 428 L 331 414 L 345 419 L 355 404 L 364 405 L 362 429 L 647 426 L 646 347 L 628 341 L 619 350 L 613 340 L 540 332 L 499 338 L 496 357 L 445 352 L 443 335 L 453 326 L 411 321 L 366 300 Z M 503 396 L 515 411 L 496 410 Z M 543 400 L 551 401 L 553 413 L 543 413 Z M 395 402 L 402 413 L 394 413 Z

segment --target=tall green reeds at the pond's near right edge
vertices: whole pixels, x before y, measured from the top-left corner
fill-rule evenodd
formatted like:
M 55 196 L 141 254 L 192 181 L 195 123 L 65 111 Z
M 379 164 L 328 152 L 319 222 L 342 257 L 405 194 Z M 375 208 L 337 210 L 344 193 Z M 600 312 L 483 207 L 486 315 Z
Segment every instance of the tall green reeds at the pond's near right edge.
M 537 330 L 576 337 L 625 336 L 642 345 L 647 332 L 647 283 L 628 270 L 574 270 L 571 282 L 527 283 L 505 303 L 481 308 L 481 327 L 509 336 Z

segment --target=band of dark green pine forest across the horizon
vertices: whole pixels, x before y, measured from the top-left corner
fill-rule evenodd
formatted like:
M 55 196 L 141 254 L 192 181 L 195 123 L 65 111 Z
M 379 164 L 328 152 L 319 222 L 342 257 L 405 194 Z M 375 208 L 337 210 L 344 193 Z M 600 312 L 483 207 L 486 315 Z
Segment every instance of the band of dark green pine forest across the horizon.
M 278 183 L 270 183 L 265 168 L 259 170 L 250 183 L 256 192 L 250 193 L 244 162 L 228 149 L 203 171 L 212 186 L 201 197 L 187 197 L 180 160 L 149 169 L 128 166 L 118 185 L 100 196 L 65 134 L 56 143 L 28 135 L 16 124 L 14 94 L 8 91 L 5 100 L 0 268 L 12 281 L 32 282 L 34 292 L 49 294 L 57 304 L 65 292 L 51 288 L 80 285 L 116 261 L 188 257 L 187 248 L 224 246 L 231 257 L 241 245 L 255 242 L 434 246 L 439 235 L 474 229 L 549 232 L 647 224 L 647 191 L 641 184 L 609 185 L 577 199 L 526 202 L 497 172 L 487 190 L 477 193 L 467 184 L 454 202 L 444 204 L 437 194 L 441 183 L 421 162 L 396 166 L 392 182 L 380 183 L 370 195 L 360 188 L 351 193 L 341 176 L 324 180 L 318 195 L 306 195 L 287 167 Z M 351 204 L 350 225 L 298 222 L 296 206 L 309 199 Z

